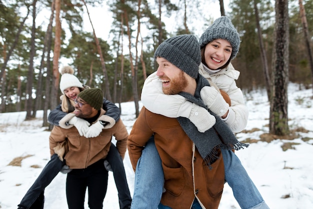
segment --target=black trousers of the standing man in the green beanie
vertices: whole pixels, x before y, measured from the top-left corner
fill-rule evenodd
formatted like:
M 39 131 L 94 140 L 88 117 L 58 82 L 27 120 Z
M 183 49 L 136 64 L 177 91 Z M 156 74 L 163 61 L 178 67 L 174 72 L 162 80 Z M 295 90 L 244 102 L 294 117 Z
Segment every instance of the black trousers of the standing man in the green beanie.
M 102 209 L 107 189 L 107 170 L 101 159 L 84 169 L 73 169 L 67 173 L 66 198 L 69 209 L 83 209 L 86 188 L 90 209 Z

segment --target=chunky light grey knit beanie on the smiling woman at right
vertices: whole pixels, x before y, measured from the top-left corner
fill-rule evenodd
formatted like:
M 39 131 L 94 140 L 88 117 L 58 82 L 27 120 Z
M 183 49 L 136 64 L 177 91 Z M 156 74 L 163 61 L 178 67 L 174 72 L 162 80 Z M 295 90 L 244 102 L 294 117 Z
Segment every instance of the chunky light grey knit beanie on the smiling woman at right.
M 215 39 L 227 40 L 232 47 L 230 59 L 236 57 L 239 51 L 240 37 L 229 18 L 222 16 L 206 29 L 199 40 L 200 49 Z

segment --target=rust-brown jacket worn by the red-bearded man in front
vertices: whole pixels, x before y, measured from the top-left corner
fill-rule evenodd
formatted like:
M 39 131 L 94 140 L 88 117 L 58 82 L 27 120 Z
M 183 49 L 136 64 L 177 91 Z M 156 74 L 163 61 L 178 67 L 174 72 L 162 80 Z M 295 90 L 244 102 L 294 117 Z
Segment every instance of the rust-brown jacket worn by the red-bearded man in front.
M 133 169 L 152 134 L 165 178 L 161 203 L 173 209 L 189 209 L 196 197 L 203 208 L 217 209 L 224 185 L 222 155 L 219 153 L 209 169 L 175 118 L 142 107 L 127 140 Z

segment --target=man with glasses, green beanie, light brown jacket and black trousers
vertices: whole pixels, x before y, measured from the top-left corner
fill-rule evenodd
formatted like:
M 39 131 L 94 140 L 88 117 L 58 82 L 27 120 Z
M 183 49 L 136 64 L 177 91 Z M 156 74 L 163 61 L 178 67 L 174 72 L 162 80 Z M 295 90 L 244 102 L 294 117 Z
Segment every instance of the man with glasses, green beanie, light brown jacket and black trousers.
M 127 129 L 121 119 L 110 123 L 107 129 L 101 129 L 95 137 L 79 134 L 75 126 L 66 127 L 66 121 L 74 116 L 86 120 L 89 124 L 97 122 L 104 115 L 102 109 L 103 92 L 98 88 L 81 91 L 74 99 L 75 110 L 54 126 L 49 136 L 50 154 L 59 154 L 71 169 L 66 178 L 66 199 L 69 209 L 83 208 L 86 188 L 88 188 L 88 206 L 90 209 L 103 208 L 103 199 L 107 189 L 108 171 L 103 166 L 108 154 L 112 136 L 116 139 L 116 148 L 121 158 L 126 152 Z M 59 145 L 66 143 L 65 153 Z

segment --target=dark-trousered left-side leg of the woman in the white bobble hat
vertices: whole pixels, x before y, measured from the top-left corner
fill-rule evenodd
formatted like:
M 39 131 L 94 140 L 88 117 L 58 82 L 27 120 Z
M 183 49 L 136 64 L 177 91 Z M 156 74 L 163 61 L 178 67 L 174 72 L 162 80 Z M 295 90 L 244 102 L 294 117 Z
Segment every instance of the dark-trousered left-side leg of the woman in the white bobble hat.
M 57 154 L 53 154 L 50 161 L 44 166 L 35 182 L 20 201 L 19 206 L 24 206 L 27 209 L 42 209 L 44 188 L 49 185 L 64 164 L 65 163 L 58 158 Z

